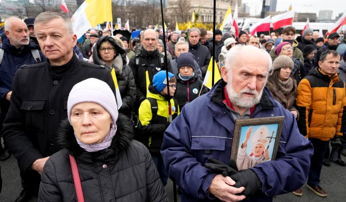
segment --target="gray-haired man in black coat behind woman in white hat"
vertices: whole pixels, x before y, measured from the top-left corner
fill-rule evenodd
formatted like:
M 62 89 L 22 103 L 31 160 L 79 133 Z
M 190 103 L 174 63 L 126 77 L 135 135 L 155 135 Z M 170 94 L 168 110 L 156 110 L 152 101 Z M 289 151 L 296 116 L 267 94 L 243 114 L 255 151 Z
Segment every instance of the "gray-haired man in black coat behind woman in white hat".
M 44 163 L 60 150 L 56 131 L 67 117 L 67 99 L 72 87 L 88 78 L 97 78 L 106 82 L 115 94 L 108 69 L 76 57 L 73 47 L 77 36 L 66 15 L 41 13 L 35 20 L 35 33 L 47 61 L 18 69 L 3 124 L 3 135 L 19 168 L 30 178 L 26 181 L 33 196 L 38 195 Z

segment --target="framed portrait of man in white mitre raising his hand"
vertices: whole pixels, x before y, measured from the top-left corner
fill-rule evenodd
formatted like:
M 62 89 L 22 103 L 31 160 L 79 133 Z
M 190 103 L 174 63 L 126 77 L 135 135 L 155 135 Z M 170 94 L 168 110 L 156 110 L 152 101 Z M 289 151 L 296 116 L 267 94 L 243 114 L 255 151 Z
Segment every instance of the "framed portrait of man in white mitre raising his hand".
M 284 116 L 236 119 L 231 158 L 238 170 L 276 159 Z

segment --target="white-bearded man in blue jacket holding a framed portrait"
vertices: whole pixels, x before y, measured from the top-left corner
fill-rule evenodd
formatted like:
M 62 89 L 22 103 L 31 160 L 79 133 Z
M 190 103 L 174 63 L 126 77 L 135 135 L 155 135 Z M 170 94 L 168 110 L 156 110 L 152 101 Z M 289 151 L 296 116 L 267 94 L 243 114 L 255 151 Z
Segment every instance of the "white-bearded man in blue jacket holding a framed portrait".
M 300 134 L 294 115 L 265 88 L 271 69 L 265 50 L 233 47 L 221 67 L 222 79 L 208 94 L 186 104 L 167 128 L 161 154 L 169 176 L 183 191 L 181 201 L 272 202 L 271 196 L 304 184 L 313 148 Z M 275 116 L 285 116 L 276 160 L 225 176 L 214 169 L 234 167 L 225 164 L 238 149 L 232 148 L 236 119 Z

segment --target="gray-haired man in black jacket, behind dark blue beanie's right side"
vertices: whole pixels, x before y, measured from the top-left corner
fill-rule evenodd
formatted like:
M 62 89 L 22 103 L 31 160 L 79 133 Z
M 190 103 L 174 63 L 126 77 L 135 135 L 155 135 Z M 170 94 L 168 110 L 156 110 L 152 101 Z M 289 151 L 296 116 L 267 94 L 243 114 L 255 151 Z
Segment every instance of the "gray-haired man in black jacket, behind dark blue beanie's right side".
M 210 52 L 207 47 L 201 45 L 199 37 L 201 31 L 197 27 L 189 30 L 189 52 L 195 56 L 195 60 L 201 68 L 202 77 L 206 76 L 208 65 L 211 59 Z

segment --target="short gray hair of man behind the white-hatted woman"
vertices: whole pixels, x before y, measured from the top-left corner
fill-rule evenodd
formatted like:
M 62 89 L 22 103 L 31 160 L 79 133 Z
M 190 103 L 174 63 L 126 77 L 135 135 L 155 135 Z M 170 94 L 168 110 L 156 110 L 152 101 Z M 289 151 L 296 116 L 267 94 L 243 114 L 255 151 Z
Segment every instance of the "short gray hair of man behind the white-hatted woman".
M 51 20 L 58 19 L 58 18 L 64 21 L 67 33 L 69 35 L 73 35 L 73 26 L 72 26 L 72 22 L 70 18 L 68 18 L 66 15 L 63 15 L 57 12 L 45 11 L 43 13 L 40 13 L 35 19 L 34 28 L 39 23 L 47 24 Z

